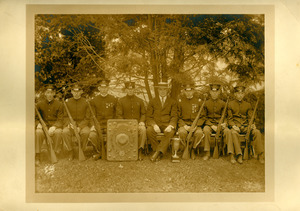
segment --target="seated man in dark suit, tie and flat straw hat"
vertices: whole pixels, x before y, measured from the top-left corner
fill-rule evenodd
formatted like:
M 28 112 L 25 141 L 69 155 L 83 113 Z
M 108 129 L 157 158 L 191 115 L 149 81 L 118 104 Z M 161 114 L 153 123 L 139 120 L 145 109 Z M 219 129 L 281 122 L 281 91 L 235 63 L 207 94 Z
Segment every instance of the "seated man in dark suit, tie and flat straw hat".
M 154 150 L 150 158 L 152 162 L 159 160 L 166 153 L 177 125 L 177 105 L 176 101 L 168 96 L 168 83 L 161 82 L 157 88 L 159 96 L 155 96 L 149 102 L 146 112 L 147 137 Z M 165 136 L 159 143 L 156 135 L 160 132 Z

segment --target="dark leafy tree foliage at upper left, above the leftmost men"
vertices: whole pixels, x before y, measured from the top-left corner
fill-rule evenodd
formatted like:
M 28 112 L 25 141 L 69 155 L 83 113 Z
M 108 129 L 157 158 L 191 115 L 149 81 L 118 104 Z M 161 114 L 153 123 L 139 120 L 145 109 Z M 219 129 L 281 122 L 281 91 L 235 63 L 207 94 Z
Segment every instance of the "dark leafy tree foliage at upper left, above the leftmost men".
M 39 82 L 61 87 L 103 75 L 98 60 L 104 57 L 105 43 L 92 24 L 88 16 L 36 16 L 35 74 Z

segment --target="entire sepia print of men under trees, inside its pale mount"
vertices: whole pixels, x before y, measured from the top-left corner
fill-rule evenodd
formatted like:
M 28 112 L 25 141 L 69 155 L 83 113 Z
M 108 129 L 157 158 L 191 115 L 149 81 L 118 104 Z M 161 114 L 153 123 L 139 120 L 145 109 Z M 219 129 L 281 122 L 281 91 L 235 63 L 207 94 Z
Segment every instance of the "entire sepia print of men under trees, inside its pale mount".
M 266 193 L 253 11 L 31 14 L 33 191 Z

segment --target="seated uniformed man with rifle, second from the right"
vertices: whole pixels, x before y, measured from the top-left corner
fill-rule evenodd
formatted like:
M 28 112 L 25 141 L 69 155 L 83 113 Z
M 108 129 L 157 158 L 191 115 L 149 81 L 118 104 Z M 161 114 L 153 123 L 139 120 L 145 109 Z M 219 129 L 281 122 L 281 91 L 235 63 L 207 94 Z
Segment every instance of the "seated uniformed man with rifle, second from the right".
M 211 98 L 206 101 L 204 105 L 204 116 L 206 116 L 205 126 L 203 128 L 204 131 L 204 151 L 205 156 L 203 160 L 208 160 L 210 157 L 210 136 L 212 132 L 217 132 L 219 121 L 222 117 L 223 110 L 225 108 L 225 102 L 219 99 L 221 93 L 221 85 L 219 83 L 211 83 L 210 84 L 210 96 Z M 226 117 L 226 113 L 225 113 Z M 224 143 L 228 144 L 232 142 L 231 132 L 226 127 L 226 120 L 221 124 L 221 134 L 224 138 Z

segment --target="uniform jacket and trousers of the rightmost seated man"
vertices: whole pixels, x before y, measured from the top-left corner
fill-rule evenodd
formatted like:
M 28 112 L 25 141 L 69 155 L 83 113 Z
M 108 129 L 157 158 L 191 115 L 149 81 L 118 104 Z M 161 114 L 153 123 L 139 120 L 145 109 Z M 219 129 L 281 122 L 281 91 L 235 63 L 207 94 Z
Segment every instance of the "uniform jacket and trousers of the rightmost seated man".
M 228 125 L 229 127 L 238 127 L 240 133 L 245 134 L 248 129 L 249 121 L 252 117 L 253 110 L 251 104 L 244 100 L 233 100 L 228 104 Z M 231 129 L 232 139 L 234 143 L 234 151 L 236 155 L 241 155 L 241 146 L 239 139 L 239 132 L 237 130 Z M 261 133 L 258 129 L 251 129 L 251 137 L 253 138 L 252 146 L 255 152 L 259 155 L 263 153 L 263 143 L 261 138 Z M 233 150 L 232 150 L 233 151 Z M 233 153 L 233 152 L 232 152 Z

